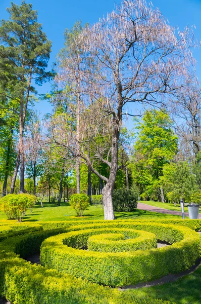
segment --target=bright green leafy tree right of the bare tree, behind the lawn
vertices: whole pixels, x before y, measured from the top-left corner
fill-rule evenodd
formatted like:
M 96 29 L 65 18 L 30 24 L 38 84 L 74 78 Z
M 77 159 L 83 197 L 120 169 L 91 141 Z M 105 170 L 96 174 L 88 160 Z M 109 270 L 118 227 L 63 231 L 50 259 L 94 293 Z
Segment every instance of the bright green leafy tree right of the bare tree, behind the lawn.
M 156 193 L 164 201 L 164 191 L 159 183 L 163 167 L 177 152 L 178 138 L 171 129 L 171 120 L 163 110 L 148 110 L 138 123 L 134 144 L 133 178 L 141 193 Z M 156 191 L 157 190 L 157 191 Z

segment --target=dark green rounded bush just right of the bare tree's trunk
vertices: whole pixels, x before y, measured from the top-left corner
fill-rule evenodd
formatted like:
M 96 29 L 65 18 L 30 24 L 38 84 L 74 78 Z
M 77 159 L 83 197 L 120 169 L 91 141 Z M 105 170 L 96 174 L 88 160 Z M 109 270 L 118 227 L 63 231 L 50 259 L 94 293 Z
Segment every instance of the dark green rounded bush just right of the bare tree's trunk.
M 114 211 L 134 211 L 137 208 L 138 195 L 134 191 L 115 189 L 113 193 Z

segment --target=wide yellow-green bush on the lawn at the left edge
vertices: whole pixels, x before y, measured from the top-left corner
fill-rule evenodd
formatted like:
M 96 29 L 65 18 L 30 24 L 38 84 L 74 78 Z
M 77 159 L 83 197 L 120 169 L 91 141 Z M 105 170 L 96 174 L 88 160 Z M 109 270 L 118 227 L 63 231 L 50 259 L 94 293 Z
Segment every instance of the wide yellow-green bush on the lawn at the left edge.
M 18 222 L 22 221 L 26 210 L 32 210 L 36 203 L 36 197 L 30 194 L 8 194 L 0 200 L 0 210 L 4 211 L 8 219 L 16 218 Z

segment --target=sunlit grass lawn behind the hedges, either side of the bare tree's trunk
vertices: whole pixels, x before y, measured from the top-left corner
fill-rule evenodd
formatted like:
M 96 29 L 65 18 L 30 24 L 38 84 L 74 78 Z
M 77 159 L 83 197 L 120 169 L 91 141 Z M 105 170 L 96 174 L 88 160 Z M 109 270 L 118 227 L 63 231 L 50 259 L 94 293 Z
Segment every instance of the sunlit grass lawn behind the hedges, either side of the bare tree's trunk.
M 68 203 L 61 203 L 61 206 L 55 204 L 43 203 L 44 207 L 36 205 L 32 213 L 27 210 L 23 221 L 48 221 L 48 220 L 95 220 L 104 219 L 104 209 L 100 206 L 90 206 L 84 211 L 82 217 L 77 217 L 75 210 Z M 115 212 L 117 219 L 139 218 L 139 219 L 162 219 L 162 218 L 181 218 L 177 215 L 162 214 L 136 209 L 133 212 Z M 6 219 L 4 212 L 0 211 L 0 220 Z

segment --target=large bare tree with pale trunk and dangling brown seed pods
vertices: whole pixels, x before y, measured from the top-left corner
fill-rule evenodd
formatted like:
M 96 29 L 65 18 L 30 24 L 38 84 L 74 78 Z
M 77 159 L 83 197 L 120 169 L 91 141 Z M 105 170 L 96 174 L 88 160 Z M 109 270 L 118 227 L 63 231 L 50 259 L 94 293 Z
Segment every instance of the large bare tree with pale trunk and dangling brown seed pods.
M 193 61 L 189 50 L 191 36 L 188 28 L 180 32 L 168 25 L 161 13 L 145 1 L 124 0 L 115 11 L 85 27 L 77 37 L 85 54 L 80 91 L 87 111 L 82 116 L 79 138 L 82 148 L 76 149 L 78 139 L 73 140 L 73 136 L 68 137 L 65 146 L 104 180 L 105 219 L 115 218 L 112 195 L 123 117 L 136 115 L 131 114 L 131 108 L 128 112 L 127 105 L 136 105 L 132 107 L 134 111 L 137 104 L 164 106 L 163 96 L 183 86 L 185 71 Z M 66 80 L 65 68 L 60 71 L 60 79 Z M 92 158 L 86 154 L 86 134 L 90 134 L 90 139 L 98 134 L 103 134 L 103 138 L 109 135 L 107 143 L 93 146 L 96 151 Z M 108 177 L 95 168 L 95 157 L 108 166 Z

